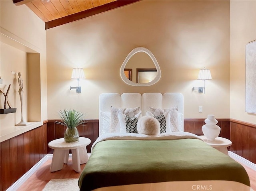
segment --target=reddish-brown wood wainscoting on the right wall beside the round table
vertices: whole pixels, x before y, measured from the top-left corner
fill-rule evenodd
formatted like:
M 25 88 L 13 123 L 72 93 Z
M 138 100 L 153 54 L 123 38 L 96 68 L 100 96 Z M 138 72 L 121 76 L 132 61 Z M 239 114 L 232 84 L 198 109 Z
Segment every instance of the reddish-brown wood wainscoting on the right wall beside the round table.
M 230 119 L 230 150 L 256 163 L 256 125 Z

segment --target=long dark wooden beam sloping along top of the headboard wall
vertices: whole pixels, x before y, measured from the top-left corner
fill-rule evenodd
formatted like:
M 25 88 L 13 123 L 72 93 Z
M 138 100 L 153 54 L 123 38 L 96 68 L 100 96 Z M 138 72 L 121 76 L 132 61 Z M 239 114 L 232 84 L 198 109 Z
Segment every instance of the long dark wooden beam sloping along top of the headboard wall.
M 138 2 L 140 0 L 117 0 L 108 4 L 104 4 L 89 10 L 84 10 L 82 12 L 78 12 L 76 14 L 68 15 L 62 18 L 58 18 L 56 20 L 45 22 L 45 29 L 54 28 L 56 26 L 60 26 L 69 22 L 73 22 L 76 20 L 80 20 L 86 17 L 90 17 L 96 14 L 100 14 L 102 12 L 106 12 L 115 8 L 119 8 L 128 4 L 132 4 L 134 2 Z

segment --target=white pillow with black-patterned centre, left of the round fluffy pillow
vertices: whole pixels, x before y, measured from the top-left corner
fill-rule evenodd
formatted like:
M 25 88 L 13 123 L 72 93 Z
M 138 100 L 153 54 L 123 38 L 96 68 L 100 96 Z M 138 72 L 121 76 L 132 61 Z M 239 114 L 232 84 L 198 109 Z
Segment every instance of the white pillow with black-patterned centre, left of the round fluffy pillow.
M 118 119 L 120 122 L 120 133 L 138 133 L 137 123 L 140 117 L 141 112 L 139 112 L 132 118 L 121 112 L 118 112 Z

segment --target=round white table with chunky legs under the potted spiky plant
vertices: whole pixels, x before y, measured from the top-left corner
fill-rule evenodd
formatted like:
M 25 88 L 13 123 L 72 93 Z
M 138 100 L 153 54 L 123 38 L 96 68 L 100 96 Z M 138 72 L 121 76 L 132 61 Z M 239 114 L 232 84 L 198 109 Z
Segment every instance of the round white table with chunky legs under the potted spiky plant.
M 80 164 L 87 163 L 88 161 L 86 146 L 90 143 L 91 140 L 85 137 L 80 137 L 78 141 L 72 143 L 65 142 L 64 138 L 49 142 L 48 146 L 54 149 L 50 171 L 61 170 L 63 163 L 68 163 L 69 150 L 71 149 L 72 167 L 76 172 L 80 172 Z

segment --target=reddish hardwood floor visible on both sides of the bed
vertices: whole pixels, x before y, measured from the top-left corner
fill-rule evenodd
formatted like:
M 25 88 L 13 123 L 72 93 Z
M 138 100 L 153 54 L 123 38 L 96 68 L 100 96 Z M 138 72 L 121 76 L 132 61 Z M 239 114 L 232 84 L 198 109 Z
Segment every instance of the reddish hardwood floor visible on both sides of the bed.
M 72 160 L 68 164 L 63 164 L 60 171 L 50 172 L 51 160 L 46 161 L 17 191 L 41 191 L 50 179 L 58 178 L 79 178 L 80 173 L 72 169 Z M 81 165 L 81 171 L 86 164 Z M 256 171 L 243 165 L 249 177 L 252 189 L 256 191 Z

